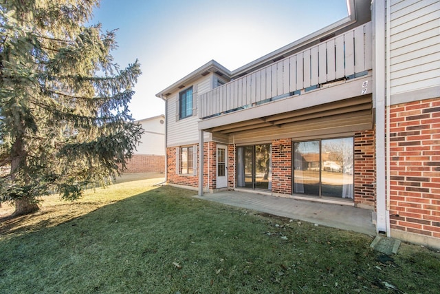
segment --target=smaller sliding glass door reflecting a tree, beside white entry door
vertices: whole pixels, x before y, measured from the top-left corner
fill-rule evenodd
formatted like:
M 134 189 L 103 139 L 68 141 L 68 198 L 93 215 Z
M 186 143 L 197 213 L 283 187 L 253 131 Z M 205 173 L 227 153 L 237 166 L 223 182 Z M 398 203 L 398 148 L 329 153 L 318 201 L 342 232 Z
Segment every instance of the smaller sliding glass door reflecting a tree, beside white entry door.
M 237 187 L 272 189 L 272 145 L 237 147 Z

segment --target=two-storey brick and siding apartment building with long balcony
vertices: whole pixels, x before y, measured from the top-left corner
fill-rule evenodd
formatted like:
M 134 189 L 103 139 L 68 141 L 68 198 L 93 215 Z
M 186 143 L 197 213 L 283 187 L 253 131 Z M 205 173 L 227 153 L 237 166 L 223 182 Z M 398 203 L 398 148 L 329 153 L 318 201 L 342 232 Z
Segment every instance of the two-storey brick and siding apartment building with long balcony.
M 440 1 L 347 0 L 349 16 L 236 70 L 157 94 L 166 180 L 372 211 L 440 248 Z

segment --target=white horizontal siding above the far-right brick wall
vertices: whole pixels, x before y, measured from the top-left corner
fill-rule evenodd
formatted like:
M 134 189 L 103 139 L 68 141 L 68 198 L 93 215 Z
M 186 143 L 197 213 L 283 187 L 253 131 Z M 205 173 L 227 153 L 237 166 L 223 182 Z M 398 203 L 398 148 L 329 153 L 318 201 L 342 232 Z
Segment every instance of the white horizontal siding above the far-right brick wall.
M 440 86 L 440 1 L 391 1 L 391 95 Z

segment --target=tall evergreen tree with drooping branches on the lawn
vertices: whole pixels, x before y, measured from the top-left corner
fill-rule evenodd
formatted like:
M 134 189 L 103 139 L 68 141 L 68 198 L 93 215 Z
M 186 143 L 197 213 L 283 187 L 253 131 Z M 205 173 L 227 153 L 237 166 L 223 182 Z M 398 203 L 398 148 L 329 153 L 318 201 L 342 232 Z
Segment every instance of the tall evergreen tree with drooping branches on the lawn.
M 113 63 L 114 31 L 89 25 L 98 0 L 0 0 L 0 203 L 106 185 L 142 135 L 128 103 L 141 74 Z

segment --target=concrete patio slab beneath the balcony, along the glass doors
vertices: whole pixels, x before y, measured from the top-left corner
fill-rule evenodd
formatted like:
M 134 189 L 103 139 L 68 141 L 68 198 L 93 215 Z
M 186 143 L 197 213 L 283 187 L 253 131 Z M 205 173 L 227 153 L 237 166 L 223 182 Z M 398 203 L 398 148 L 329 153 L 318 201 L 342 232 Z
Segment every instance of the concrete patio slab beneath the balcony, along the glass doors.
M 375 225 L 372 221 L 372 211 L 368 209 L 241 191 L 220 191 L 195 197 L 276 216 L 284 216 L 294 220 L 313 222 L 327 227 L 376 235 Z

